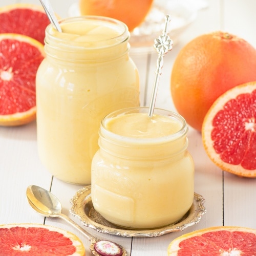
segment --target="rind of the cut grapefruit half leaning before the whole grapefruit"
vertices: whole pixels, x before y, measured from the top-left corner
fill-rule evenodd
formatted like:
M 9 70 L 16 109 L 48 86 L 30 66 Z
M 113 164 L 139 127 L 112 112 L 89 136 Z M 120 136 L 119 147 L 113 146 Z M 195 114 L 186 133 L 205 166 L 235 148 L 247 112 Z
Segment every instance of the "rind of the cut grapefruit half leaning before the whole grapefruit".
M 256 177 L 256 169 L 247 170 L 241 166 L 241 164 L 234 165 L 224 162 L 220 155 L 215 152 L 213 146 L 214 141 L 211 139 L 211 131 L 214 128 L 212 126 L 212 120 L 216 114 L 222 109 L 222 106 L 231 99 L 235 99 L 238 95 L 252 93 L 256 90 L 256 81 L 248 82 L 236 86 L 224 94 L 222 94 L 210 107 L 208 110 L 202 125 L 202 141 L 205 148 L 205 151 L 212 162 L 214 162 L 221 169 L 236 174 L 241 177 L 254 178 Z

